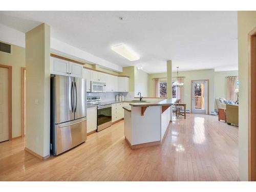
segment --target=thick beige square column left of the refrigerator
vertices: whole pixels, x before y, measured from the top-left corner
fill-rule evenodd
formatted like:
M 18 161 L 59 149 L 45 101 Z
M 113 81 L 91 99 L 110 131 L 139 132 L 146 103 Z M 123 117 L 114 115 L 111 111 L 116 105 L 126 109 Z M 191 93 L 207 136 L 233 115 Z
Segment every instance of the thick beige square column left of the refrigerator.
M 25 150 L 46 159 L 50 155 L 50 26 L 26 33 Z

